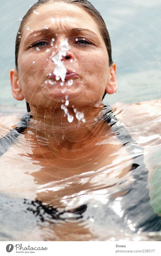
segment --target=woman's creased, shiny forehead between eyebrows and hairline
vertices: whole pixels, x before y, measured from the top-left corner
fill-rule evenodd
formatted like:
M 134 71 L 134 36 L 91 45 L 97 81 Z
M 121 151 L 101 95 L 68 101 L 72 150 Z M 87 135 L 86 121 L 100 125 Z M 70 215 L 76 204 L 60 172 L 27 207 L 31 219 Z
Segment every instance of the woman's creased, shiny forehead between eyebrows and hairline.
M 33 12 L 29 16 L 23 28 L 23 36 L 31 33 L 31 31 L 27 30 L 28 27 L 30 30 L 39 30 L 47 25 L 54 27 L 56 30 L 63 30 L 73 26 L 87 28 L 101 37 L 96 22 L 85 9 L 78 5 L 63 2 L 44 4 L 37 8 L 35 12 L 38 14 Z

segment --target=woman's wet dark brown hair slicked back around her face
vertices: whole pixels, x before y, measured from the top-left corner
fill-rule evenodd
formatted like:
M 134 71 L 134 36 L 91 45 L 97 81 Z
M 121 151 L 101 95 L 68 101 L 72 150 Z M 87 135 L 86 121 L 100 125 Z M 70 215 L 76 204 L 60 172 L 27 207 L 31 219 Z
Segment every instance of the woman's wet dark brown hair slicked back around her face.
M 41 5 L 44 4 L 49 4 L 49 3 L 56 3 L 56 2 L 64 2 L 67 4 L 75 4 L 81 8 L 84 8 L 89 14 L 90 16 L 93 18 L 93 20 L 96 22 L 96 24 L 98 25 L 98 29 L 100 34 L 102 35 L 102 38 L 105 42 L 105 46 L 108 52 L 108 57 L 109 57 L 109 65 L 112 65 L 112 56 L 111 56 L 111 41 L 110 41 L 110 36 L 106 27 L 106 24 L 101 16 L 101 14 L 99 13 L 99 11 L 96 10 L 96 8 L 87 0 L 39 0 L 37 3 L 35 3 L 30 9 L 29 11 L 27 11 L 27 13 L 25 14 L 25 16 L 23 17 L 21 24 L 20 24 L 20 28 L 18 30 L 17 33 L 17 37 L 16 37 L 16 43 L 15 43 L 15 65 L 16 65 L 16 70 L 18 71 L 18 64 L 17 64 L 17 60 L 18 60 L 18 52 L 19 52 L 19 47 L 20 47 L 20 35 L 22 35 L 22 31 L 23 31 L 23 27 L 26 24 L 26 22 L 29 19 L 30 14 L 33 13 L 34 10 L 36 10 L 37 8 L 39 8 Z M 102 100 L 105 97 L 106 91 L 103 94 Z

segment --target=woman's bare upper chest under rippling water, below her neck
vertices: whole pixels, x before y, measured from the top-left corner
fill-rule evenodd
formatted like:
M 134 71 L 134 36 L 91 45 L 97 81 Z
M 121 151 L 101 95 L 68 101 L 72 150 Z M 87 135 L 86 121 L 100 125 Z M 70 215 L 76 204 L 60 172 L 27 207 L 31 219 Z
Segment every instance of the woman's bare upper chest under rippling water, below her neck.
M 51 183 L 54 186 L 57 182 L 65 186 L 74 179 L 77 184 L 85 175 L 84 184 L 74 186 L 74 193 L 102 182 L 111 186 L 129 171 L 130 156 L 127 157 L 127 150 L 119 140 L 111 138 L 86 146 L 80 151 L 63 150 L 60 154 L 51 148 L 35 147 L 31 142 L 26 144 L 21 137 L 0 158 L 1 192 L 34 199 L 41 186 L 48 187 Z

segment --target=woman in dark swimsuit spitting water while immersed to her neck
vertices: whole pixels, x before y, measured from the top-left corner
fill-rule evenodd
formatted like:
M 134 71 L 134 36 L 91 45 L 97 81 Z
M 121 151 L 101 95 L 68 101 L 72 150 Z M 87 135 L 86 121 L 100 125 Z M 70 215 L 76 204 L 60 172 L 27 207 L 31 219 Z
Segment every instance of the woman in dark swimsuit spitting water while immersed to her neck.
M 11 169 L 3 173 L 3 200 L 9 204 L 9 193 L 26 207 L 15 212 L 21 233 L 10 231 L 12 239 L 106 240 L 159 231 L 145 145 L 133 140 L 140 135 L 133 130 L 160 118 L 160 102 L 102 103 L 117 91 L 117 80 L 99 12 L 88 1 L 38 1 L 23 17 L 15 55 L 12 94 L 30 109 L 1 140 L 2 166 L 8 159 Z

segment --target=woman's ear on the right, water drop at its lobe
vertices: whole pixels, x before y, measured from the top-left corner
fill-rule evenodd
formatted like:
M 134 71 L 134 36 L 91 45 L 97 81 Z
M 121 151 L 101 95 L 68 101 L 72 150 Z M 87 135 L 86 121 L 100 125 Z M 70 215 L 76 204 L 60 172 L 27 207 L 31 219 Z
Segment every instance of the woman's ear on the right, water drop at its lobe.
M 111 64 L 111 66 L 109 67 L 109 72 L 110 72 L 109 81 L 108 81 L 105 91 L 108 94 L 112 94 L 117 91 L 116 64 L 115 63 Z

